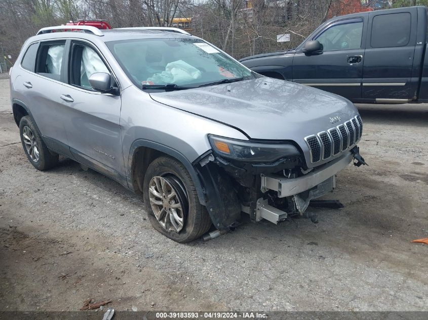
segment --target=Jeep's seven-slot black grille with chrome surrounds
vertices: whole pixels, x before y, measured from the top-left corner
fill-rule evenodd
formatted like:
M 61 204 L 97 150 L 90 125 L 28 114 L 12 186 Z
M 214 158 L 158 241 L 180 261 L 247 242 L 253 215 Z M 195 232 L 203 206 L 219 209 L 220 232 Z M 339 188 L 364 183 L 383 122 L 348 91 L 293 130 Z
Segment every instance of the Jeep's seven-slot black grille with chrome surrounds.
M 309 147 L 310 162 L 319 162 L 354 146 L 363 134 L 363 121 L 356 116 L 335 128 L 309 135 L 304 140 Z

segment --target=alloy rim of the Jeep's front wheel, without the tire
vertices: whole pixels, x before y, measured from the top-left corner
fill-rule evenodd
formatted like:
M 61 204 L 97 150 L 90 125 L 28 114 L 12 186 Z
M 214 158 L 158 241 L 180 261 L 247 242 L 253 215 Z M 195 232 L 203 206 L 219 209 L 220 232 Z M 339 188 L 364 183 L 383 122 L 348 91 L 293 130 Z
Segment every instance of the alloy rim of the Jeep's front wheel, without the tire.
M 179 233 L 184 226 L 187 197 L 172 177 L 154 176 L 149 184 L 149 200 L 154 216 L 167 231 Z

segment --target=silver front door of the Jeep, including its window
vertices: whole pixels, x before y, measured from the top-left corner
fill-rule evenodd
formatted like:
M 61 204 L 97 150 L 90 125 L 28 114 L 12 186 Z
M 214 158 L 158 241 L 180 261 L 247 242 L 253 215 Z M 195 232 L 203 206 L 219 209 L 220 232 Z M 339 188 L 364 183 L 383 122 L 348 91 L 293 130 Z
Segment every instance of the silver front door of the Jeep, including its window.
M 123 182 L 121 97 L 96 92 L 88 80 L 93 73 L 111 74 L 111 70 L 98 51 L 83 41 L 71 41 L 69 57 L 68 83 L 60 89 L 60 97 L 67 107 L 70 151 L 77 161 Z

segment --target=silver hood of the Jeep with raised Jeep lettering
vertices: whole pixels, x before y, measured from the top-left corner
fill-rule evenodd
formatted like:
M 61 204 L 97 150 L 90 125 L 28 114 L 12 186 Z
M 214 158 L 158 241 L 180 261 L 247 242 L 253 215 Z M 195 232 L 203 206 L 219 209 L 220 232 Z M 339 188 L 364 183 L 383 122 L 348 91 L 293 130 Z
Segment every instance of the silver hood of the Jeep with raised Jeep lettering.
M 261 77 L 221 85 L 150 94 L 162 104 L 244 131 L 251 139 L 294 140 L 358 115 L 354 104 L 298 83 Z M 340 121 L 330 122 L 330 117 Z

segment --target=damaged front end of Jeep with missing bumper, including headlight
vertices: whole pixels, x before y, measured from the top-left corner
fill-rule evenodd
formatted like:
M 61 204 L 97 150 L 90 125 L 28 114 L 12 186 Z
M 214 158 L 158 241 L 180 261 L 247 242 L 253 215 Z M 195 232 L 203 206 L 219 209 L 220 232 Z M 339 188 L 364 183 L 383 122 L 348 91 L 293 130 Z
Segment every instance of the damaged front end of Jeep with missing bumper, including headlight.
M 254 143 L 209 136 L 213 151 L 195 167 L 208 212 L 218 229 L 229 228 L 241 212 L 251 220 L 278 224 L 287 217 L 316 218 L 306 213 L 313 199 L 332 192 L 336 174 L 353 159 L 366 164 L 357 146 L 315 168 L 307 168 L 293 142 Z

